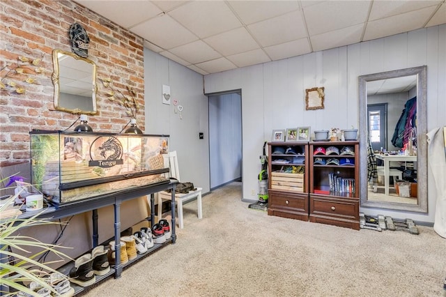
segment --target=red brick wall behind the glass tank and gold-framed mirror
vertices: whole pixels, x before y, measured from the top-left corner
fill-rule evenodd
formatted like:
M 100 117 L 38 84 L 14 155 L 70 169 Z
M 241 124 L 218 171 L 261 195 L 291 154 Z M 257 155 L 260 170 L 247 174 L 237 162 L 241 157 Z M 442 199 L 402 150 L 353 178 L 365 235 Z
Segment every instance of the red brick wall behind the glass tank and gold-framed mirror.
M 111 78 L 115 90 L 137 93 L 137 122 L 144 131 L 144 49 L 143 39 L 72 1 L 1 0 L 0 69 L 17 62 L 18 56 L 41 58 L 45 73 L 36 84 L 25 84 L 26 92 L 0 91 L 0 167 L 29 162 L 29 131 L 64 130 L 77 114 L 54 109 L 52 50 L 71 52 L 68 30 L 82 24 L 90 38 L 89 59 L 98 78 Z M 1 77 L 4 76 L 4 71 Z M 20 77 L 18 79 L 20 84 Z M 97 80 L 98 114 L 89 116 L 95 132 L 120 132 L 130 121 L 124 107 L 112 102 Z

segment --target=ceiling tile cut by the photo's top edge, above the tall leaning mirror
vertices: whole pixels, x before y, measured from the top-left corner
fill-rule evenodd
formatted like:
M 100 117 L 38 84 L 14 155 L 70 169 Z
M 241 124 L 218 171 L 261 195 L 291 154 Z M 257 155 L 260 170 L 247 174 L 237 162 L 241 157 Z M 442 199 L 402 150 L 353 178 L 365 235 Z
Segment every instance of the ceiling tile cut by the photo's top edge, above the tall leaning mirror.
M 426 8 L 429 6 L 437 6 L 441 1 L 413 1 L 413 0 L 399 0 L 399 1 L 374 1 L 371 6 L 369 21 L 383 19 L 385 17 L 392 17 L 400 15 L 401 13 L 408 13 L 413 10 Z

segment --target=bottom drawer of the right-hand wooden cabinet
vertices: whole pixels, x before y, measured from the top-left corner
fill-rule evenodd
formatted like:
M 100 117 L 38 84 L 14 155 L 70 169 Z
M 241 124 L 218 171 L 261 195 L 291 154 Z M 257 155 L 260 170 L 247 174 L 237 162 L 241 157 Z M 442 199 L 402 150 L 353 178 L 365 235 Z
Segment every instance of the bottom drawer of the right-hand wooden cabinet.
M 310 195 L 310 215 L 359 220 L 359 201 L 347 198 L 324 198 Z

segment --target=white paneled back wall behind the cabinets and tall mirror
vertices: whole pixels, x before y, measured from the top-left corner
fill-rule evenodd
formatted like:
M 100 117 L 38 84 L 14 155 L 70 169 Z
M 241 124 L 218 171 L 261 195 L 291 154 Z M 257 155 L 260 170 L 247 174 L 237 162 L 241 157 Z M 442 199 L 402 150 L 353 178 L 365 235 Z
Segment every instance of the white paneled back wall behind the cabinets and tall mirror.
M 243 198 L 258 188 L 259 148 L 273 129 L 311 126 L 312 131 L 358 125 L 359 75 L 427 66 L 428 130 L 446 125 L 446 25 L 206 75 L 205 92 L 242 90 Z M 325 87 L 325 109 L 305 110 L 305 89 Z M 259 122 L 263 121 L 263 126 Z M 433 222 L 435 186 L 428 176 L 429 213 L 410 218 Z M 375 215 L 401 213 L 367 209 Z

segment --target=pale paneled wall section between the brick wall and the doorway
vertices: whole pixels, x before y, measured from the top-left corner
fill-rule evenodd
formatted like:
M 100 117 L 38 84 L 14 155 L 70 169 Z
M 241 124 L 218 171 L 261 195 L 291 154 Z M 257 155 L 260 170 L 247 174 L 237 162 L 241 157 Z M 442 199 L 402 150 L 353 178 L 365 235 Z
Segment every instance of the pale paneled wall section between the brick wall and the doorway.
M 203 94 L 203 76 L 144 49 L 144 83 L 144 132 L 170 135 L 169 149 L 178 153 L 181 179 L 209 192 L 208 98 Z M 163 84 L 170 86 L 171 101 L 183 105 L 183 119 L 174 105 L 162 104 Z M 199 132 L 204 139 L 199 139 Z

